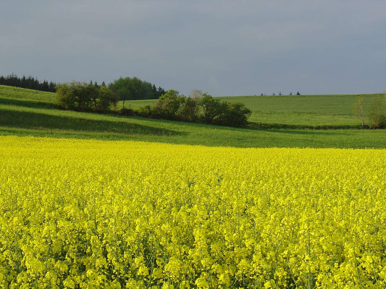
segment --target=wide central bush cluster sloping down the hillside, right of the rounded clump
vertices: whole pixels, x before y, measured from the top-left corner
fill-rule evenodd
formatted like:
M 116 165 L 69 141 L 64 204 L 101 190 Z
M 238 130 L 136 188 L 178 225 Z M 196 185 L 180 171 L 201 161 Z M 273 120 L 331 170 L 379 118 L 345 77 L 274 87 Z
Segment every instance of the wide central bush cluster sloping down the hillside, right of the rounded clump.
M 251 110 L 241 102 L 220 101 L 198 90 L 185 97 L 170 89 L 153 106 L 139 108 L 137 114 L 146 118 L 240 127 L 247 125 Z

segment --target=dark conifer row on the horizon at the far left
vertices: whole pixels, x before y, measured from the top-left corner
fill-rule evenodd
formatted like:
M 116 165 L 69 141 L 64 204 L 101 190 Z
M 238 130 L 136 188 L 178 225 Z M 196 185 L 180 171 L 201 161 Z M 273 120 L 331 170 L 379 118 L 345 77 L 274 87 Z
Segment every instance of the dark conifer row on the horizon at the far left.
M 0 76 L 0 85 L 21 87 L 47 92 L 56 92 L 56 83 L 53 81 L 48 82 L 44 79 L 43 82 L 40 82 L 37 78 L 33 76 L 25 77 L 25 75 L 23 75 L 23 77 L 20 78 L 13 73 L 8 76 Z

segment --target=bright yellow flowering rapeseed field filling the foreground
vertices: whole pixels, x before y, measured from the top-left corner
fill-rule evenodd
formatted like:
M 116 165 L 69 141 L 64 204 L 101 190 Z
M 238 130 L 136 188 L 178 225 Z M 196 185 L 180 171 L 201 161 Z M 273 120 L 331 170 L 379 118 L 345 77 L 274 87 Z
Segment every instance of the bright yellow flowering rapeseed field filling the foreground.
M 385 288 L 385 157 L 0 136 L 0 288 Z

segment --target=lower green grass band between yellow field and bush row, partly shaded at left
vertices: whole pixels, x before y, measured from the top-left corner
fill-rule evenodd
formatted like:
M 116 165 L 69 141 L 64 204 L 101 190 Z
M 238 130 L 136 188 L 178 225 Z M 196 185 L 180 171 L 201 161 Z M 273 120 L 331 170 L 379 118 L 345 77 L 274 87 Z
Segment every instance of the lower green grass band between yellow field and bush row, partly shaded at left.
M 158 141 L 244 148 L 386 147 L 386 132 L 383 130 L 237 129 L 10 105 L 0 105 L 0 134 Z

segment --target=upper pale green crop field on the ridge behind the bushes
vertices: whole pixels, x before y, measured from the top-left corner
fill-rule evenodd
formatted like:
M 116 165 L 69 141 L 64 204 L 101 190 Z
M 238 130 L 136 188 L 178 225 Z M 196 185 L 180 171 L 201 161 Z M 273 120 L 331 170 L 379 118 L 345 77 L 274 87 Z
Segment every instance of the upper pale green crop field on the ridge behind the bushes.
M 291 95 L 291 96 L 220 96 L 228 102 L 242 102 L 251 109 L 249 121 L 262 127 L 280 128 L 289 125 L 299 128 L 328 126 L 332 128 L 356 128 L 361 121 L 353 114 L 352 104 L 358 95 Z M 374 94 L 365 94 L 368 103 Z M 217 98 L 217 97 L 216 97 Z M 125 101 L 125 106 L 139 108 L 152 105 L 154 99 Z M 121 108 L 123 102 L 118 105 Z

